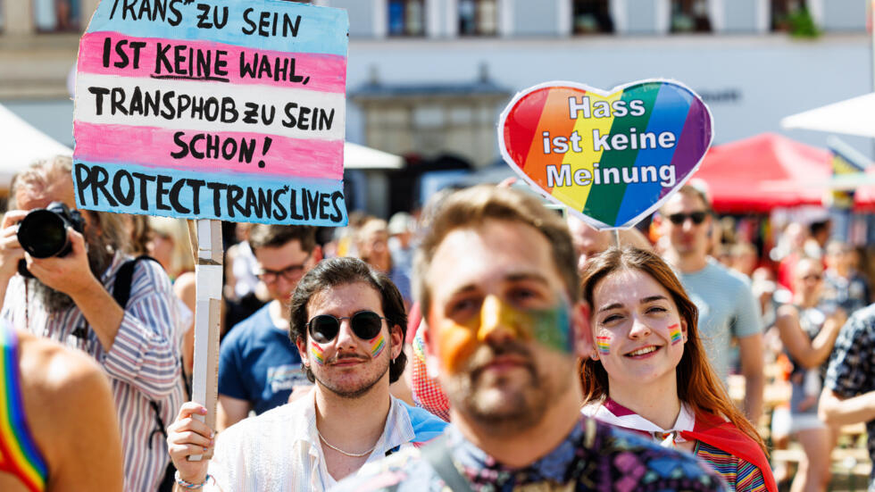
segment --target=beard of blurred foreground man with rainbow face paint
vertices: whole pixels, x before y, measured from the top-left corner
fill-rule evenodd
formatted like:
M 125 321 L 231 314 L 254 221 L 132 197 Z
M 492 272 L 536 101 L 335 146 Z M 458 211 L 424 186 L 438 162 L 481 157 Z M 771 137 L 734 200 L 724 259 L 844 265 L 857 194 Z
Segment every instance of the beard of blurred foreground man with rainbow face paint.
M 526 380 L 511 379 L 507 375 L 484 380 L 486 364 L 502 354 L 518 354 L 529 361 L 522 367 L 527 371 Z M 544 418 L 548 405 L 568 390 L 549 379 L 538 375 L 528 347 L 511 341 L 480 347 L 462 371 L 447 381 L 446 393 L 450 406 L 484 429 L 517 432 L 536 426 Z

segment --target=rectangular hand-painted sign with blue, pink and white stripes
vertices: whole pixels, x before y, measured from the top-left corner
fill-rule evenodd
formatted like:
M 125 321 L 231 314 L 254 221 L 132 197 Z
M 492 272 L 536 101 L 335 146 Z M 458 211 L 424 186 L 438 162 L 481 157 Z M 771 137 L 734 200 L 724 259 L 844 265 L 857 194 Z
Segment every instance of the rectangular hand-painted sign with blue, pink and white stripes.
M 79 45 L 79 208 L 346 224 L 346 11 L 103 0 Z

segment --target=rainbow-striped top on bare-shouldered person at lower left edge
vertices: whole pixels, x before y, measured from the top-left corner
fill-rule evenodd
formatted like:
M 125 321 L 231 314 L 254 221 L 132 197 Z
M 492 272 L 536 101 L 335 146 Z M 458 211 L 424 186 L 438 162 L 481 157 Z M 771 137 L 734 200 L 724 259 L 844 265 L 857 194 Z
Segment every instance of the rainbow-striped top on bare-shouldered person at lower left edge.
M 30 433 L 18 365 L 18 338 L 12 326 L 0 324 L 0 471 L 21 479 L 31 492 L 46 489 L 48 467 Z

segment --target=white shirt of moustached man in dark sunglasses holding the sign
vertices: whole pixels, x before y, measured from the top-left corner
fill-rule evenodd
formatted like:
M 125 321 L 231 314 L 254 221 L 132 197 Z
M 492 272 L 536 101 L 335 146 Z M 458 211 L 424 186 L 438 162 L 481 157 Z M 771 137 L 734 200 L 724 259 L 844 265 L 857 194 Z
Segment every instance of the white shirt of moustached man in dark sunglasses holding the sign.
M 389 450 L 412 447 L 414 436 L 409 413 L 392 397 L 383 434 L 365 464 Z M 222 432 L 209 473 L 225 492 L 318 492 L 334 486 L 316 433 L 315 392 Z

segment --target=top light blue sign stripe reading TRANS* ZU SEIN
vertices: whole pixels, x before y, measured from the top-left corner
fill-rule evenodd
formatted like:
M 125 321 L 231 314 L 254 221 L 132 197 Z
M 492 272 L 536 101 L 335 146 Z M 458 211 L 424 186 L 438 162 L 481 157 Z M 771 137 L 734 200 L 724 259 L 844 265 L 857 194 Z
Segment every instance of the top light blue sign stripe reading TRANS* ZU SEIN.
M 285 0 L 102 0 L 87 29 L 101 31 L 346 56 L 349 18 L 343 9 Z

